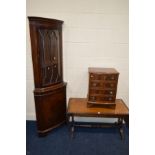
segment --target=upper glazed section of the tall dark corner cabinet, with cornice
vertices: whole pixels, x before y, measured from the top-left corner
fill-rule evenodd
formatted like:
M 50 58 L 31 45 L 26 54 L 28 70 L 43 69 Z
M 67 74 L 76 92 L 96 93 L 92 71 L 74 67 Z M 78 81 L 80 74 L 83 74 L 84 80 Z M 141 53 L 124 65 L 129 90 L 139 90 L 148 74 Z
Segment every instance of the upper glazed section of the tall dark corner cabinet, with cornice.
M 63 82 L 63 21 L 40 17 L 28 19 L 35 87 L 42 88 Z

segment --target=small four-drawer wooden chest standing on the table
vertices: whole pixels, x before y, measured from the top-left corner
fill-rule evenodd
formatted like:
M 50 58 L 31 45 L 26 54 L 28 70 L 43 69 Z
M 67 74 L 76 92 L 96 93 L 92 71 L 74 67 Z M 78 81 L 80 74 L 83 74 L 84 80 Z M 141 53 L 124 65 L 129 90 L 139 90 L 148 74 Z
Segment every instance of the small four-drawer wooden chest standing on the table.
M 115 105 L 119 73 L 114 68 L 89 68 L 87 103 Z

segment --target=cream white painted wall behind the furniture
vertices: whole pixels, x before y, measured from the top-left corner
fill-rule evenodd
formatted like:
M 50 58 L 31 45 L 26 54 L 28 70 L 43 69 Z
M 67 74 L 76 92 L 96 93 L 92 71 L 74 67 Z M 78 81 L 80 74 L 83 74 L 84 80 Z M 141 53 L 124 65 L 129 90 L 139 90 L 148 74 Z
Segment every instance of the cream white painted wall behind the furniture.
M 70 97 L 86 97 L 88 67 L 114 67 L 117 98 L 129 106 L 128 0 L 27 0 L 27 16 L 54 18 L 63 25 L 63 70 Z M 35 120 L 29 25 L 26 29 L 26 119 Z M 85 120 L 85 119 L 83 119 Z

